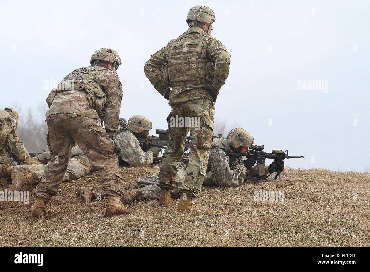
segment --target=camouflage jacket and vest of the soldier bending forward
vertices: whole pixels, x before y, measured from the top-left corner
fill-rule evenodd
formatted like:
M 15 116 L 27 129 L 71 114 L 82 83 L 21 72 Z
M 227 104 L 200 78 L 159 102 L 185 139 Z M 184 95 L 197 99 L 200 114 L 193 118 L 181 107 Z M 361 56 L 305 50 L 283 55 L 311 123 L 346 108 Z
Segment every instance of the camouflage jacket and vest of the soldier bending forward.
M 118 130 L 122 84 L 118 75 L 101 66 L 78 68 L 68 74 L 47 98 L 46 116 L 69 113 L 104 121 L 105 129 Z

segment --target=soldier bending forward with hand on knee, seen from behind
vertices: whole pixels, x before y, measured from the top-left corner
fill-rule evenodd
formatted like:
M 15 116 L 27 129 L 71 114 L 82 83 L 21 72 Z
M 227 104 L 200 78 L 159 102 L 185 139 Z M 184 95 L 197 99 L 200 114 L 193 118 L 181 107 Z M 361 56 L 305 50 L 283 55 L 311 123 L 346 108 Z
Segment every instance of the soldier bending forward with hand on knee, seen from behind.
M 135 211 L 120 202 L 124 185 L 115 155 L 114 140 L 122 100 L 122 85 L 116 70 L 121 59 L 116 51 L 100 48 L 92 55 L 90 64 L 68 74 L 47 98 L 50 107 L 46 113 L 47 142 L 52 159 L 34 191 L 34 217 L 48 214 L 46 204 L 58 192 L 73 142 L 100 173 L 101 185 L 108 196 L 105 215 Z M 105 130 L 101 126 L 104 120 Z

